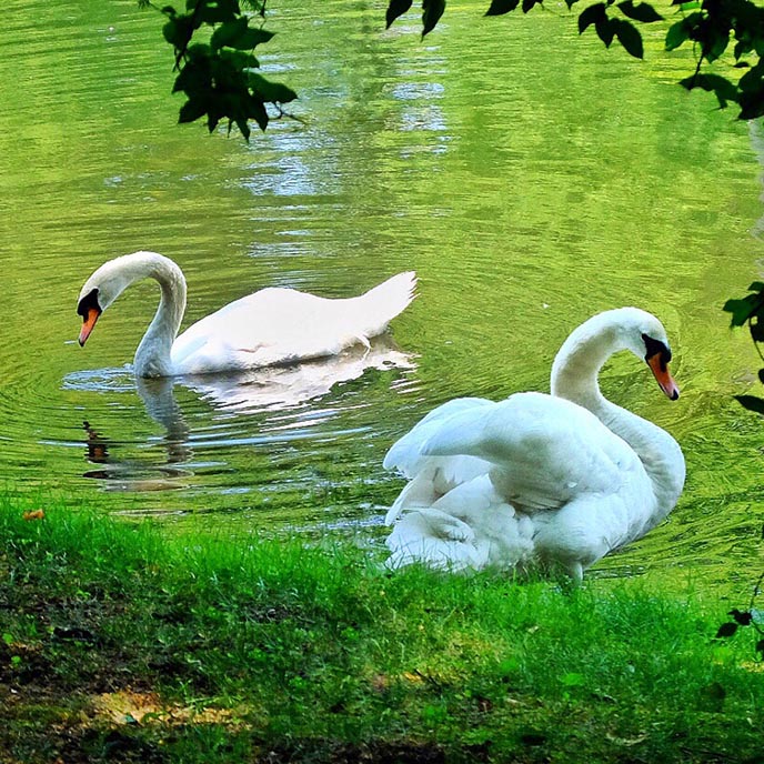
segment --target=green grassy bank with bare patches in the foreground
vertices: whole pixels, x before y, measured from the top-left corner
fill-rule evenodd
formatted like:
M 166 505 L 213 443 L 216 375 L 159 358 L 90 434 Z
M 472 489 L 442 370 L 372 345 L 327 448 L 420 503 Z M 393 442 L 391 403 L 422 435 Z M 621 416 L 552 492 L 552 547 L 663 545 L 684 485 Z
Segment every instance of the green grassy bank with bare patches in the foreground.
M 718 603 L 0 499 L 0 762 L 764 762 Z

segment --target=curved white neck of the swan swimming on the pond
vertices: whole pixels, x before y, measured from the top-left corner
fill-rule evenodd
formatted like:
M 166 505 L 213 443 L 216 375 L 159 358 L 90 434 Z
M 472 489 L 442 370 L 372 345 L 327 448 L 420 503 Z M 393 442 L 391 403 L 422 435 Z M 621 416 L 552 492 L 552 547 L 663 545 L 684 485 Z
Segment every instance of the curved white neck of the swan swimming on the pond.
M 121 290 L 141 279 L 159 282 L 159 308 L 135 351 L 138 376 L 174 373 L 170 351 L 185 312 L 185 279 L 172 260 L 157 252 L 133 252 L 110 263 L 120 275 Z

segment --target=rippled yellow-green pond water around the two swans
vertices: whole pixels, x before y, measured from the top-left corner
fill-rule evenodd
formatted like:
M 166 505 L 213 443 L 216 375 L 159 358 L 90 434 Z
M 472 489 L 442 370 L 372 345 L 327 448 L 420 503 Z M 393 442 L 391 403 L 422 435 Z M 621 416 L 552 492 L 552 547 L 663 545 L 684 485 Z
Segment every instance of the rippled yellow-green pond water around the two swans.
M 600 567 L 741 587 L 761 564 L 762 425 L 731 396 L 758 359 L 721 305 L 758 275 L 756 125 L 686 94 L 691 66 L 579 39 L 564 6 L 484 19 L 450 3 L 421 42 L 384 2 L 279 3 L 260 60 L 300 93 L 250 145 L 175 127 L 161 17 L 134 0 L 6 3 L 0 29 L 0 481 L 172 527 L 384 535 L 389 445 L 455 395 L 546 390 L 590 314 L 664 321 L 680 402 L 617 358 L 616 402 L 682 444 L 670 522 Z M 536 41 L 539 47 L 536 48 Z M 189 281 L 184 325 L 268 285 L 420 296 L 372 354 L 137 384 L 158 298 L 125 293 L 81 350 L 90 272 L 138 249 Z

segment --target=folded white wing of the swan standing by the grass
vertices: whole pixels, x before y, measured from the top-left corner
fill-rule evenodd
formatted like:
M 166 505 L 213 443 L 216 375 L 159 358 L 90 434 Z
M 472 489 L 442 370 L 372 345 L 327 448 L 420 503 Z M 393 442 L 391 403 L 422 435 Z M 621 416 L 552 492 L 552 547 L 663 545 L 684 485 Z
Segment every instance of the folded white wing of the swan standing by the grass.
M 527 511 L 559 507 L 581 494 L 613 493 L 644 472 L 634 451 L 594 414 L 542 393 L 517 393 L 456 413 L 421 453 L 485 460 L 503 499 Z

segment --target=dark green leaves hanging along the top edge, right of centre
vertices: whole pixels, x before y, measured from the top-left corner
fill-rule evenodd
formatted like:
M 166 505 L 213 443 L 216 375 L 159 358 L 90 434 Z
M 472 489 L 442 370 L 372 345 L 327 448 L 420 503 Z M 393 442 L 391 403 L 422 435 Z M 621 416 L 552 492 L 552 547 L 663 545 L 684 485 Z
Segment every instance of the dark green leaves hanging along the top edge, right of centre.
M 573 9 L 580 0 L 565 0 Z M 390 0 L 388 27 L 411 8 L 411 0 Z M 521 8 L 527 13 L 543 0 L 490 0 L 485 16 L 503 16 Z M 720 108 L 730 103 L 740 107 L 741 119 L 764 114 L 764 8 L 753 0 L 673 0 L 675 16 L 665 36 L 666 51 L 683 44 L 692 46 L 695 70 L 680 81 L 687 90 L 700 88 L 716 96 Z M 445 10 L 445 0 L 422 1 L 422 34 L 432 31 Z M 637 24 L 666 22 L 650 2 L 634 0 L 600 0 L 579 13 L 579 33 L 593 28 L 606 48 L 613 41 L 634 58 L 644 58 L 644 42 Z M 732 44 L 734 42 L 734 44 Z M 730 79 L 704 70 L 730 52 L 732 67 L 741 72 Z

